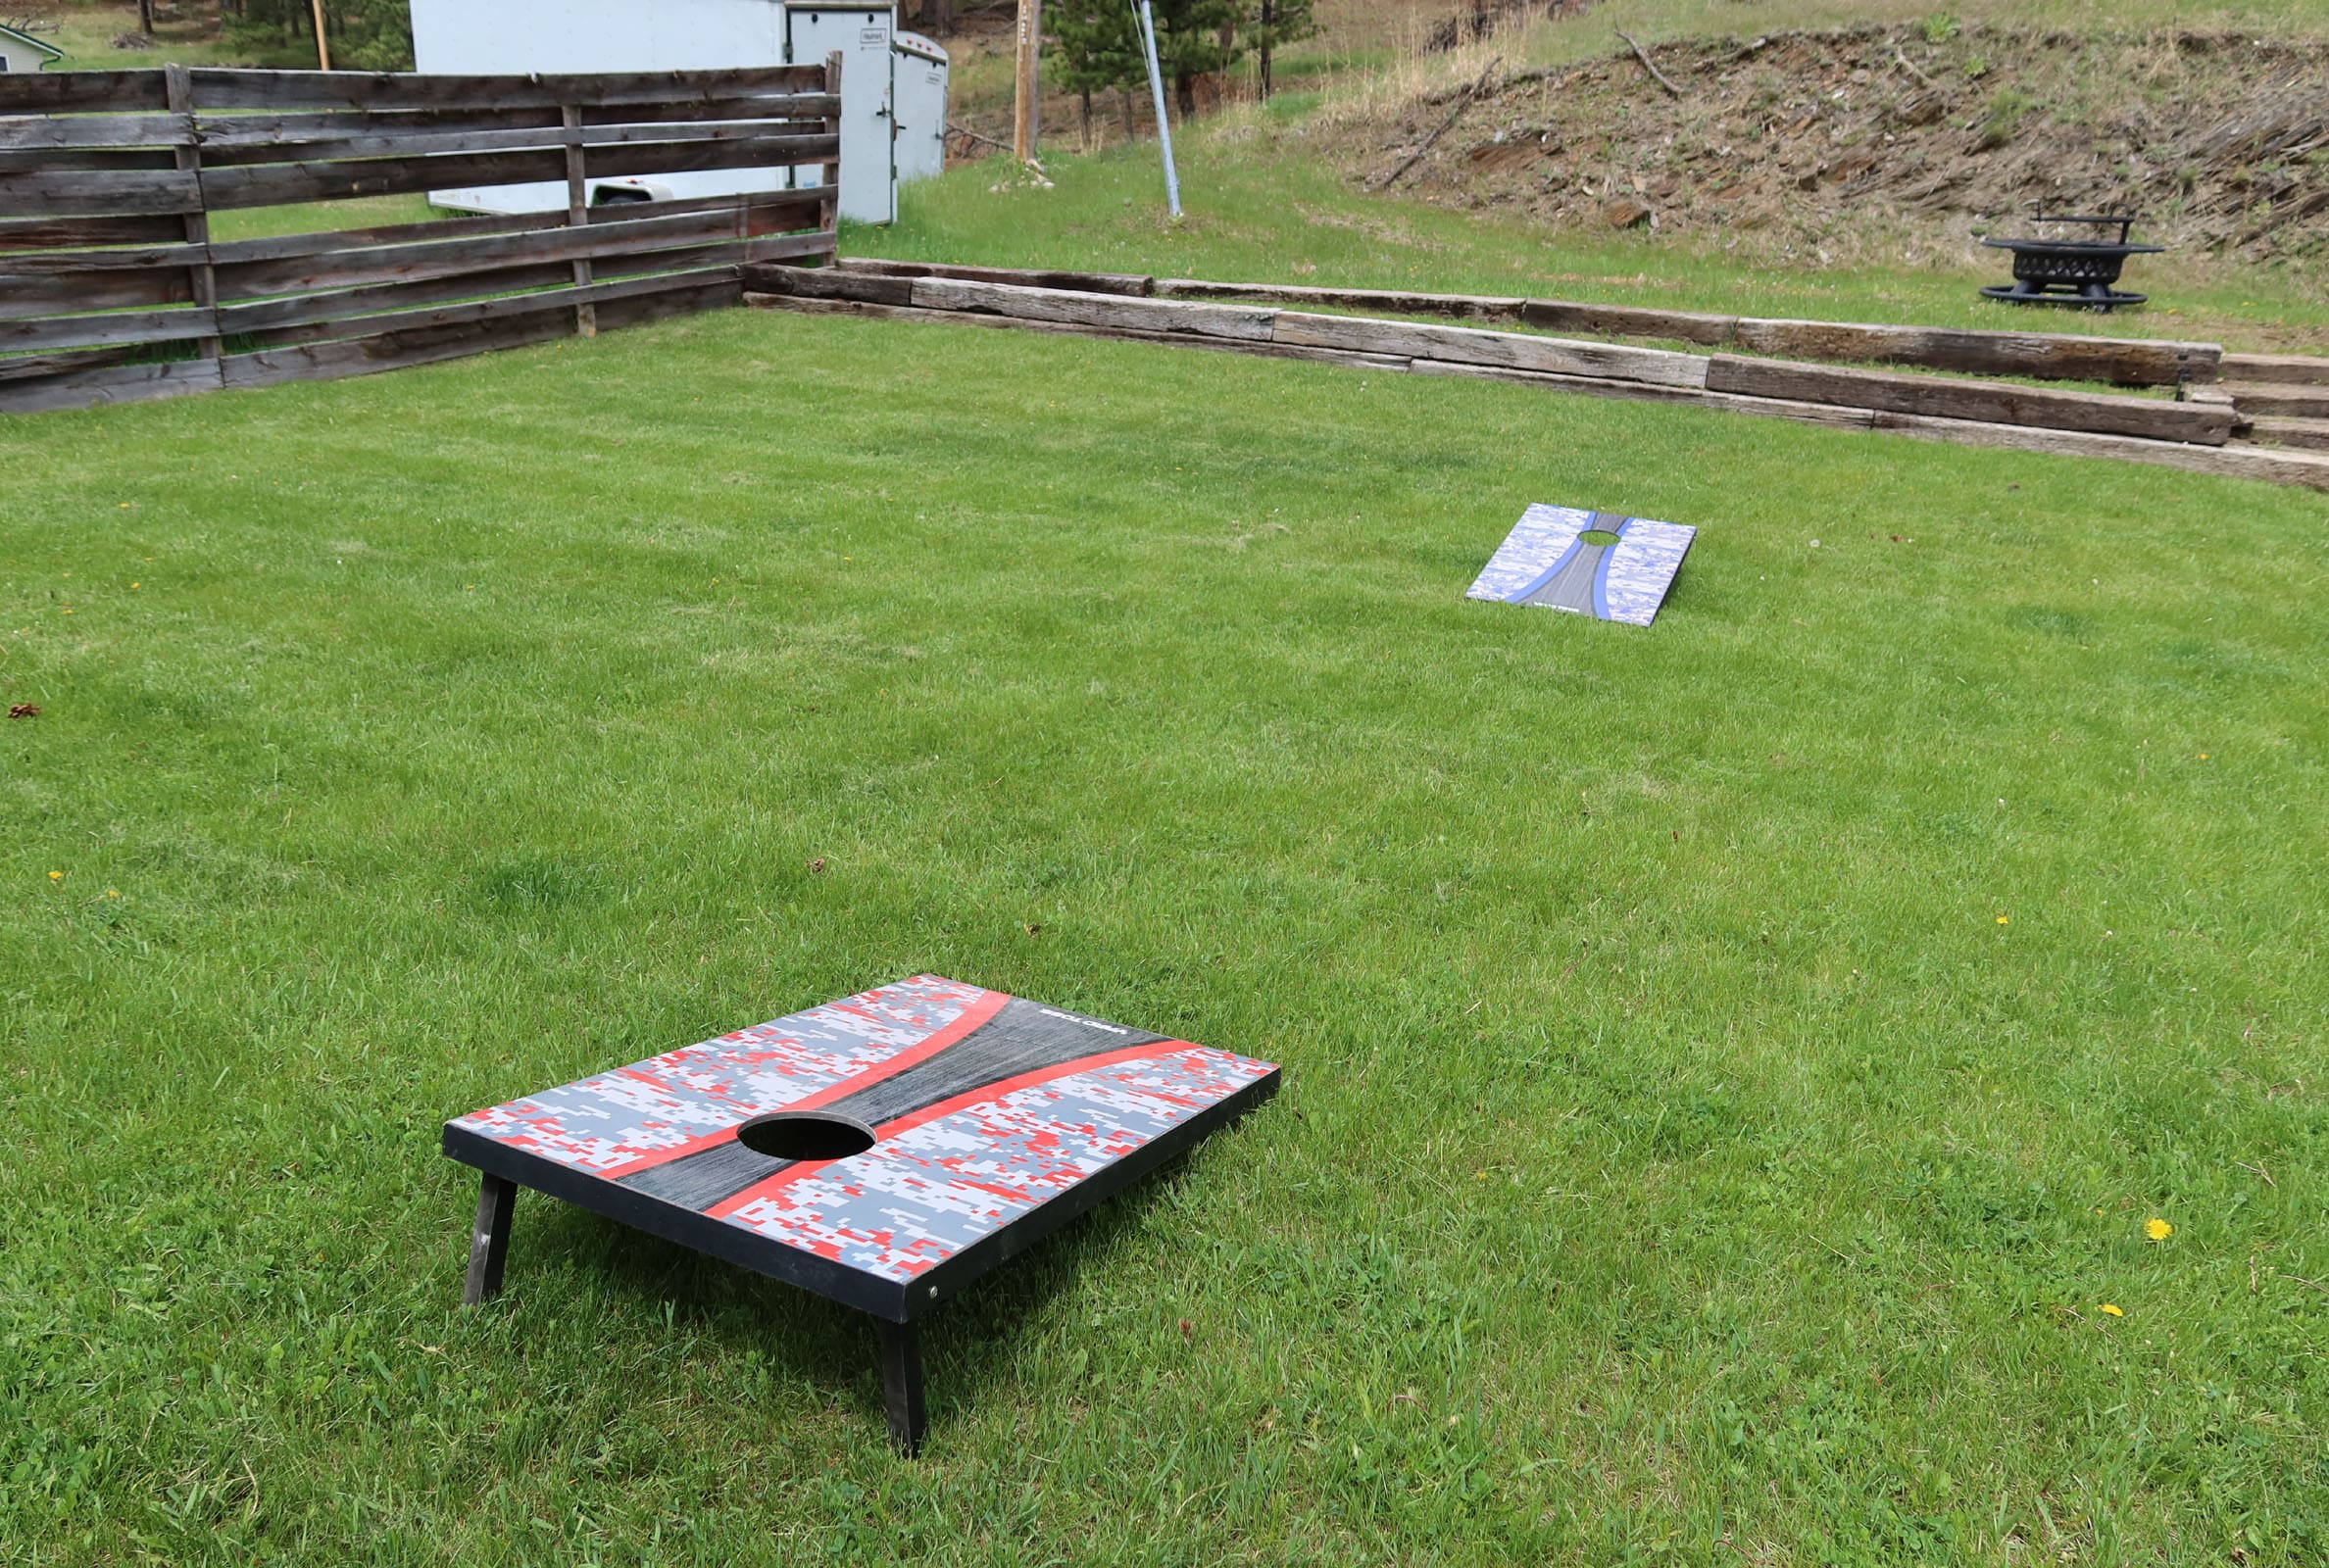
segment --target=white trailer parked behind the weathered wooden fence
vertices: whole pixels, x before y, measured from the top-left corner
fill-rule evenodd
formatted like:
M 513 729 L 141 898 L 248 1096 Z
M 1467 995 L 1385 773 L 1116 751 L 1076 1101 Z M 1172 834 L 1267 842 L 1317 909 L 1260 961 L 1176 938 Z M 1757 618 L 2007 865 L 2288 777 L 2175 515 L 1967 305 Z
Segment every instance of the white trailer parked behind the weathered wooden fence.
M 913 40 L 899 54 L 894 0 L 410 0 L 412 56 L 424 72 L 564 75 L 636 70 L 741 70 L 750 65 L 822 65 L 841 51 L 841 214 L 859 224 L 897 217 L 897 182 L 946 168 L 946 51 Z M 906 35 L 911 37 L 911 35 Z M 899 147 L 897 75 L 913 79 L 918 107 L 934 121 L 939 158 L 915 140 Z M 918 130 L 906 135 L 918 137 Z M 901 168 L 904 163 L 911 168 Z M 645 179 L 592 179 L 589 200 L 661 200 L 787 191 L 822 182 L 820 165 L 743 168 Z M 438 207 L 461 212 L 557 212 L 561 182 L 431 191 Z

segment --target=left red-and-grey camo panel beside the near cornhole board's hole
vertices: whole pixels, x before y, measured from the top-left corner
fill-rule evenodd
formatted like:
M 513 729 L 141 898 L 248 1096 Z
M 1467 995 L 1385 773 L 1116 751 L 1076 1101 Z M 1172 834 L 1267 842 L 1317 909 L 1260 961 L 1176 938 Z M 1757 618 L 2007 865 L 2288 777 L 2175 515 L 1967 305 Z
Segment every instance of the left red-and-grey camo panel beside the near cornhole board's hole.
M 459 1116 L 454 1125 L 603 1174 L 857 1076 L 929 1039 L 983 995 L 922 974 Z

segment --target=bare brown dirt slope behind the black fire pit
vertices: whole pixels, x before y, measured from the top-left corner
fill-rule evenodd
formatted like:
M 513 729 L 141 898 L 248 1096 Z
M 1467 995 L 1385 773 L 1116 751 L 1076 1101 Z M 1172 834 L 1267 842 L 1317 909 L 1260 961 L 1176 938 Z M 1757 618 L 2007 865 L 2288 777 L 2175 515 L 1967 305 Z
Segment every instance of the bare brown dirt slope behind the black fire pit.
M 1945 30 L 1945 28 L 1940 28 Z M 1956 252 L 2050 212 L 2136 212 L 2136 238 L 2329 266 L 2329 44 L 1966 28 L 1782 33 L 1523 72 L 1400 182 L 1549 224 L 1707 231 L 1803 259 Z M 1367 126 L 1381 177 L 1446 119 Z

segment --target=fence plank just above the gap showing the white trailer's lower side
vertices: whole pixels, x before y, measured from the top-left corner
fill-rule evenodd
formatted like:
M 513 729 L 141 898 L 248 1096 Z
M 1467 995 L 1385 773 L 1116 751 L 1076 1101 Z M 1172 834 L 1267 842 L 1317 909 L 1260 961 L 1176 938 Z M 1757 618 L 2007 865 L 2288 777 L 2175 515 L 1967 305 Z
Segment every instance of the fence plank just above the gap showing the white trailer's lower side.
M 785 168 L 841 147 L 829 135 L 764 135 L 736 142 L 657 142 L 610 147 L 592 158 L 592 177 L 685 175 L 724 168 Z M 98 179 L 100 175 L 84 175 Z M 352 158 L 326 163 L 254 163 L 205 168 L 203 196 L 212 210 L 282 207 L 359 196 L 405 196 L 477 184 L 531 184 L 566 177 L 559 147 L 538 151 L 438 154 L 422 158 Z

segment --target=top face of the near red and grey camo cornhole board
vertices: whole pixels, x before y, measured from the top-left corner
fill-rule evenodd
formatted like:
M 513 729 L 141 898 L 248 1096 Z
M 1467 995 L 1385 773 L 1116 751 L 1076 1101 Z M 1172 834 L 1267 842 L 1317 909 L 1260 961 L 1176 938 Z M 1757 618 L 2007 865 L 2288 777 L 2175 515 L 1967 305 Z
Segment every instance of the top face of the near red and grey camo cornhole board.
M 452 1125 L 901 1284 L 1274 1072 L 925 974 Z M 804 1107 L 878 1142 L 783 1160 L 736 1137 Z

